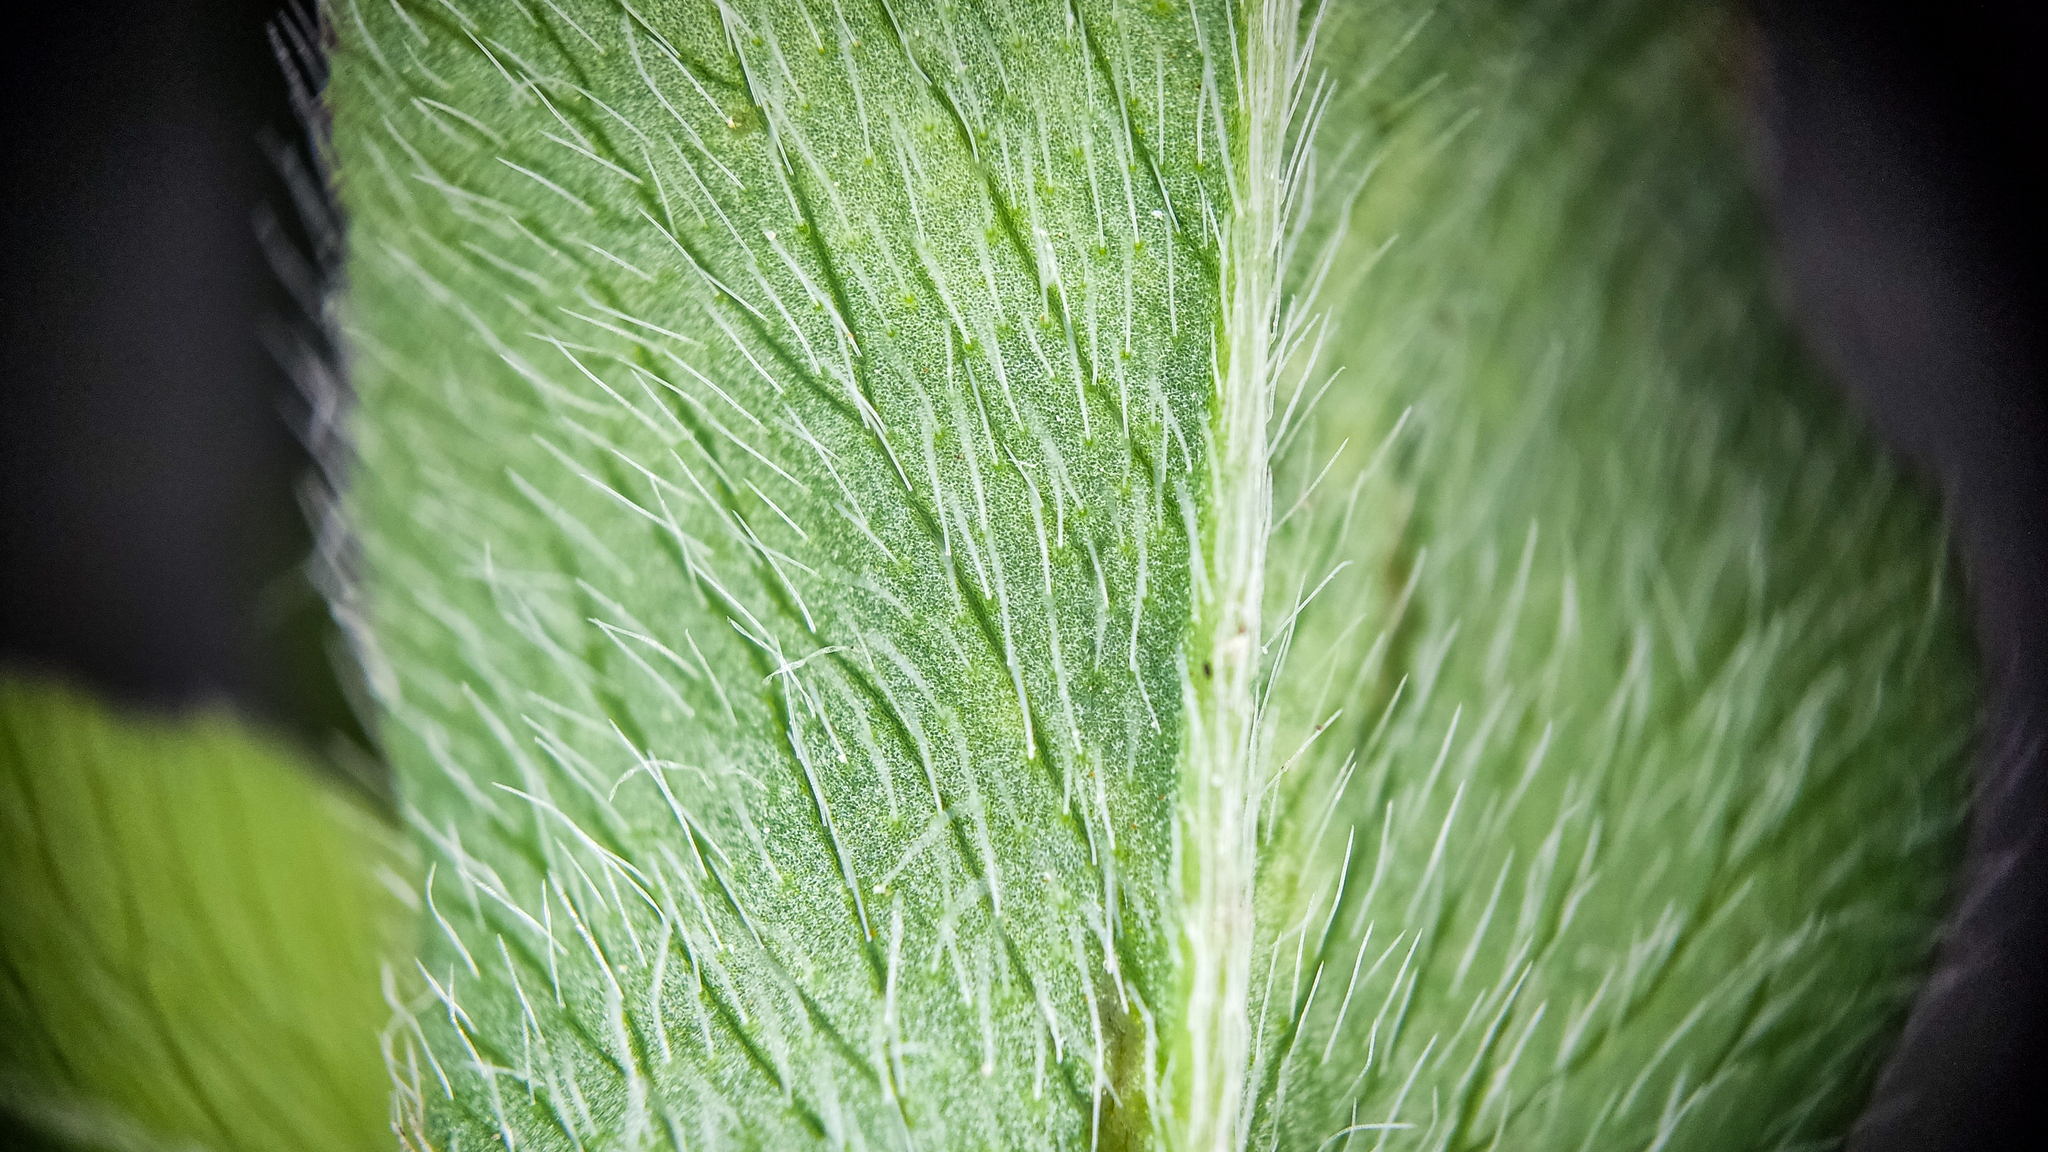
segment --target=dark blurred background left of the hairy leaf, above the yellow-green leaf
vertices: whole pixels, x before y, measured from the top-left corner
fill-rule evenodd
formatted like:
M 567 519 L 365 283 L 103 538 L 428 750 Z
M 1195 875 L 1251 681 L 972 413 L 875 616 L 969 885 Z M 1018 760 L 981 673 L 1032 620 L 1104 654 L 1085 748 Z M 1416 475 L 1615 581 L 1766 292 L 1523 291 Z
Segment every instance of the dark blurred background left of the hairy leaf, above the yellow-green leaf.
M 254 223 L 291 215 L 276 10 L 90 0 L 0 47 L 0 658 L 319 746 L 350 722 Z

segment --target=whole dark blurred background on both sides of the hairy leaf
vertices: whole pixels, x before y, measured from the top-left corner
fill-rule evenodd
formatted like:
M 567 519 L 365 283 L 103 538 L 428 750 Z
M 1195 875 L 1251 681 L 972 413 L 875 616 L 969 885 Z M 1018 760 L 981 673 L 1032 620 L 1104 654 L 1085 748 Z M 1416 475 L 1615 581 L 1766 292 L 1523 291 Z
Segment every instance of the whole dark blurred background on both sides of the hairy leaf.
M 1673 0 L 1683 2 L 1683 0 Z M 1759 0 L 1788 307 L 1950 498 L 1991 695 L 1970 863 L 1858 1152 L 2036 1142 L 2048 1088 L 2048 143 L 2021 4 Z M 0 662 L 358 738 L 305 576 L 305 332 L 258 213 L 276 0 L 82 0 L 0 43 Z M 332 756 L 330 756 L 332 758 Z M 0 927 L 4 931 L 4 927 Z M 0 1121 L 0 1146 L 14 1146 Z

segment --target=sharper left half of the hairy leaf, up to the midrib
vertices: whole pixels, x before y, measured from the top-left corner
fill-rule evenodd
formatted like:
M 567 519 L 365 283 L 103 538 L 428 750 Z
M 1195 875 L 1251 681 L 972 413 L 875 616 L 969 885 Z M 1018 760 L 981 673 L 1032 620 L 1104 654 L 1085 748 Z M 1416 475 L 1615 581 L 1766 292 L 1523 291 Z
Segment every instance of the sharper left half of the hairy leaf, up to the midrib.
M 1225 141 L 1141 164 L 1139 125 L 1223 123 L 1190 18 L 356 12 L 358 508 L 459 924 L 428 968 L 520 1006 L 440 1033 L 481 1103 L 430 1140 L 662 1101 L 758 1144 L 1145 1138 Z M 602 1107 L 524 1103 L 528 1033 Z

